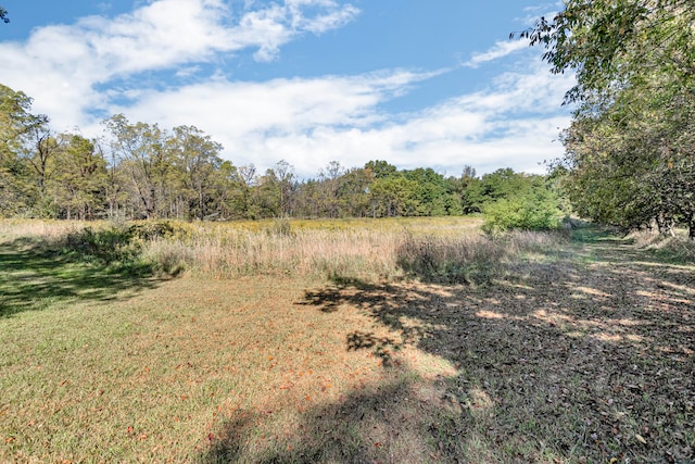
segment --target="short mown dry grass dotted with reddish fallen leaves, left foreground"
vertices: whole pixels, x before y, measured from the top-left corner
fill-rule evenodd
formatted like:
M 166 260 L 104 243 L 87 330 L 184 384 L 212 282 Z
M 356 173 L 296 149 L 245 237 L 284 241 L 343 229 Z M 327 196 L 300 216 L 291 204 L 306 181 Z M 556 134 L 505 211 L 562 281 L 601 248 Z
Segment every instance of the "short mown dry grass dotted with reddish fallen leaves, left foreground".
M 320 313 L 306 286 L 185 278 L 3 319 L 0 461 L 428 461 L 434 379 L 453 367 L 407 349 L 384 371 L 345 348 L 369 317 Z M 355 441 L 328 446 L 344 434 Z

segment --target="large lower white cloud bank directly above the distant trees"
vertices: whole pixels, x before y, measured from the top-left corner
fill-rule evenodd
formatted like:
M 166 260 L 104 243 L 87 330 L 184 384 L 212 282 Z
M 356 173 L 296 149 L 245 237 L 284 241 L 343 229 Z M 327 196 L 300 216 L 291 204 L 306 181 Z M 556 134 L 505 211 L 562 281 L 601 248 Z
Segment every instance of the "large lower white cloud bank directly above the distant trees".
M 383 159 L 399 167 L 431 166 L 458 175 L 509 166 L 543 172 L 539 162 L 561 154 L 557 138 L 569 115 L 557 111 L 571 76 L 552 75 L 538 58 L 483 91 L 419 112 L 389 114 L 381 103 L 432 77 L 406 71 L 312 79 L 201 83 L 149 91 L 137 104 L 114 106 L 131 121 L 164 127 L 195 124 L 225 147 L 236 165 L 262 172 L 279 160 L 315 176 L 330 161 L 343 166 Z

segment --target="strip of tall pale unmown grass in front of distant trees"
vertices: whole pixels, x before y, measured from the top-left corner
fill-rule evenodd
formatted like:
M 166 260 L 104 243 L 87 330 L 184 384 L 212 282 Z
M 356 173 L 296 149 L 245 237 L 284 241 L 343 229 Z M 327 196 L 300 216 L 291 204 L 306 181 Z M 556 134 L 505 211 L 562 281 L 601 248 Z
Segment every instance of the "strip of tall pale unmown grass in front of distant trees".
M 169 274 L 185 269 L 216 278 L 416 278 L 448 284 L 490 281 L 504 275 L 508 264 L 522 253 L 557 241 L 555 236 L 540 233 L 518 233 L 493 240 L 480 233 L 479 224 L 467 218 L 135 223 L 102 224 L 77 231 L 67 227 L 62 236 L 51 231 L 47 237 L 54 243 L 99 256 L 119 256 L 123 253 L 118 250 L 137 251 L 140 264 L 149 263 Z M 26 231 L 26 227 L 22 228 L 22 233 Z M 35 229 L 36 234 L 42 231 L 41 227 Z

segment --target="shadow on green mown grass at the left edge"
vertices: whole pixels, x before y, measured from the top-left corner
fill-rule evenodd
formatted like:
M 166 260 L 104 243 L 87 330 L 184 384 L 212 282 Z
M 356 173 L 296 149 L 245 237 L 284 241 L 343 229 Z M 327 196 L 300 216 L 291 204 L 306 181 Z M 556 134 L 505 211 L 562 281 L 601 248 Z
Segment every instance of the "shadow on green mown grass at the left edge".
M 86 262 L 24 238 L 0 241 L 0 317 L 77 301 L 110 301 L 123 290 L 156 285 L 147 265 Z

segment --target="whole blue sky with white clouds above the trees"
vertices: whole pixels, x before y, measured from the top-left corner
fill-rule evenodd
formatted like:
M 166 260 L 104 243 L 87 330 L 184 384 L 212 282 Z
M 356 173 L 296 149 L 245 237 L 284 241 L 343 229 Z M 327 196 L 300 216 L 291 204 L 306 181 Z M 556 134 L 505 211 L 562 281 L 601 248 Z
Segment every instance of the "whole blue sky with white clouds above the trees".
M 564 93 L 543 50 L 510 40 L 534 0 L 0 0 L 0 84 L 55 131 L 123 113 L 195 126 L 235 165 L 301 178 L 386 160 L 446 176 L 544 173 Z

